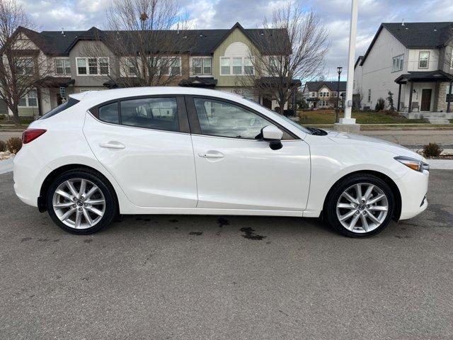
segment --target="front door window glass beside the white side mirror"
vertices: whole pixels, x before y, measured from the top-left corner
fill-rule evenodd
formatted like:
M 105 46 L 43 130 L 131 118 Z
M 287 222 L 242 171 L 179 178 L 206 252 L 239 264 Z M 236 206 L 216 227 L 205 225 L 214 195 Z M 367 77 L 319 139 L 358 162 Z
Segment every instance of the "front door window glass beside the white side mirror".
M 203 135 L 256 139 L 261 129 L 273 125 L 265 118 L 234 104 L 194 98 Z

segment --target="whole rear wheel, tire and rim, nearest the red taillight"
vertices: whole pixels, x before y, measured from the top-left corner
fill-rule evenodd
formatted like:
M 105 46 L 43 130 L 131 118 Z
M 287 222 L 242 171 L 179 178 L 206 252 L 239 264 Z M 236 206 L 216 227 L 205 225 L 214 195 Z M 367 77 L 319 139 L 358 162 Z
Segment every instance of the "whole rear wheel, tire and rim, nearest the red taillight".
M 60 228 L 92 234 L 112 222 L 117 202 L 112 186 L 94 171 L 67 171 L 47 191 L 47 211 Z

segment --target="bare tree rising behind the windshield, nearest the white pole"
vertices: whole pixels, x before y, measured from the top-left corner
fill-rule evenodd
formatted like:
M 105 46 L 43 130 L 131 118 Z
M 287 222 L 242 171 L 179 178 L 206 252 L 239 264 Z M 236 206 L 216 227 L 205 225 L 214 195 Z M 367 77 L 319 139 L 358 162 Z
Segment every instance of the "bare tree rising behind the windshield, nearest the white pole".
M 253 68 L 245 68 L 244 81 L 253 84 L 260 96 L 276 100 L 282 114 L 301 81 L 323 74 L 328 33 L 314 11 L 290 1 L 275 9 L 270 21 L 263 21 L 263 30 L 255 32 L 256 48 L 250 52 Z

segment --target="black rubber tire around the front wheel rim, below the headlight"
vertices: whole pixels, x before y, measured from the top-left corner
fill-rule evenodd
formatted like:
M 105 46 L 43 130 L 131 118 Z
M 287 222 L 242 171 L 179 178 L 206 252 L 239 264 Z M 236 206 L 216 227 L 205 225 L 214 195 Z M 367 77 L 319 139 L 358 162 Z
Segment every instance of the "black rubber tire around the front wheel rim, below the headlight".
M 337 216 L 337 202 L 340 196 L 342 195 L 343 191 L 350 188 L 357 183 L 370 183 L 374 186 L 377 186 L 381 191 L 384 192 L 388 201 L 388 210 L 385 219 L 382 221 L 382 224 L 379 225 L 376 229 L 373 229 L 370 232 L 352 232 L 349 229 L 344 227 Z M 391 218 L 394 214 L 394 206 L 395 206 L 395 199 L 394 193 L 391 191 L 389 185 L 379 179 L 377 176 L 373 176 L 371 174 L 352 174 L 351 176 L 347 177 L 346 179 L 342 179 L 331 189 L 328 197 L 326 198 L 326 203 L 324 205 L 324 217 L 327 222 L 340 234 L 343 234 L 348 237 L 355 237 L 355 238 L 363 238 L 363 237 L 371 237 L 375 234 L 379 234 L 382 230 L 389 225 Z M 354 229 L 352 227 L 352 229 Z

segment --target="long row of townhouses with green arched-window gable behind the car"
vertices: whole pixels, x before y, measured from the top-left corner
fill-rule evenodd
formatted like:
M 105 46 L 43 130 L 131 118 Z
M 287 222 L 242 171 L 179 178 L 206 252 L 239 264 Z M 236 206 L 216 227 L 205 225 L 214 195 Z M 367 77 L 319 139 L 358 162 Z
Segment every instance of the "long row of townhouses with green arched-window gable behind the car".
M 190 47 L 178 45 L 172 48 L 172 51 L 168 51 L 168 58 L 172 60 L 171 65 L 162 67 L 159 72 L 168 72 L 175 76 L 168 85 L 198 86 L 234 92 L 275 109 L 277 106 L 275 100 L 260 96 L 254 89 L 254 84 L 245 84 L 241 81 L 241 77 L 253 74 L 251 50 L 272 43 L 259 41 L 260 39 L 269 36 L 287 39 L 286 31 L 278 29 L 270 33 L 263 31 L 244 29 L 239 23 L 230 29 L 162 31 L 157 34 L 165 34 L 168 40 L 186 39 L 190 41 Z M 18 33 L 21 40 L 28 41 L 26 50 L 21 53 L 22 58 L 44 57 L 51 65 L 46 76 L 21 98 L 19 115 L 42 115 L 66 100 L 69 94 L 121 87 L 121 79 L 134 77 L 132 64 L 130 67 L 120 67 L 120 58 L 127 56 L 115 54 L 115 51 L 109 48 L 109 44 L 104 44 L 103 39 L 99 38 L 111 35 L 112 32 L 93 27 L 89 30 L 42 32 L 18 28 Z M 102 45 L 101 48 L 99 44 Z M 90 48 L 93 50 L 93 46 L 102 52 L 87 55 L 86 51 Z M 260 52 L 265 53 L 263 50 Z M 132 46 L 130 55 L 137 53 Z M 287 49 L 281 53 L 287 54 Z M 24 69 L 23 72 L 33 70 Z M 273 77 L 265 76 L 267 77 L 261 79 L 272 83 Z

